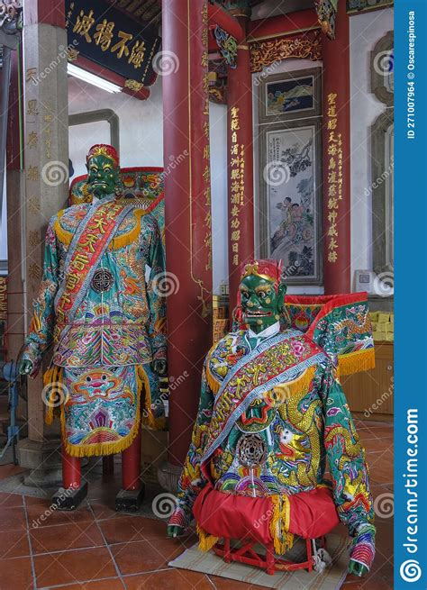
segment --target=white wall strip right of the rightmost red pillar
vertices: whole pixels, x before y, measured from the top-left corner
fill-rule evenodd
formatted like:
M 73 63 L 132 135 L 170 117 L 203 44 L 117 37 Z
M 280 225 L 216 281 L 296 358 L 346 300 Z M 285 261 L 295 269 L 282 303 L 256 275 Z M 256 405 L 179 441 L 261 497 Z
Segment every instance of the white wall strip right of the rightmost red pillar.
M 370 126 L 386 105 L 370 92 L 370 51 L 393 30 L 393 9 L 350 18 L 351 279 L 372 269 Z

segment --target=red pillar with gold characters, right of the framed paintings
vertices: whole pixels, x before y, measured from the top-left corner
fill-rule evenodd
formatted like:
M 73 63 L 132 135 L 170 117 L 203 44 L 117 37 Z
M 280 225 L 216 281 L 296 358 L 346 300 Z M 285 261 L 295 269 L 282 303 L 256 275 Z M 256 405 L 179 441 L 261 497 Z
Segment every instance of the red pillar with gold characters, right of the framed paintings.
M 325 294 L 351 289 L 350 32 L 338 3 L 336 37 L 323 36 L 323 277 Z

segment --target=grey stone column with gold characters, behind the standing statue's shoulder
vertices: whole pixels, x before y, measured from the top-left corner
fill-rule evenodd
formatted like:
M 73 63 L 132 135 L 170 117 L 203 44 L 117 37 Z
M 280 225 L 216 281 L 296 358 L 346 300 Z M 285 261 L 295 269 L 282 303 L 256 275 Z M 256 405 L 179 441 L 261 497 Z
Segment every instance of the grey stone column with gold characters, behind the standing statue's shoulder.
M 23 21 L 25 326 L 42 274 L 44 234 L 50 217 L 68 198 L 67 33 L 63 0 L 28 0 Z M 45 359 L 46 361 L 47 359 Z M 20 464 L 32 469 L 27 483 L 60 481 L 58 435 L 44 424 L 42 371 L 28 380 L 28 439 Z

